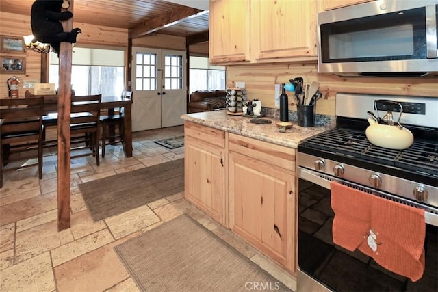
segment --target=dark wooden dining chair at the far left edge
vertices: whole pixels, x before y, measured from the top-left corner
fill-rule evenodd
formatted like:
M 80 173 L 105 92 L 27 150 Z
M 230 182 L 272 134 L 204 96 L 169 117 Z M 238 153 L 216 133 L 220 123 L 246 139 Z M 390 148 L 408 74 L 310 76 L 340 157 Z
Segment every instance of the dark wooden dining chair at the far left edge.
M 37 151 L 38 162 L 19 163 L 7 170 L 38 165 L 38 178 L 42 178 L 43 105 L 42 97 L 0 99 L 0 188 L 3 187 L 5 165 L 16 159 L 23 159 L 21 155 L 15 154 L 25 151 Z

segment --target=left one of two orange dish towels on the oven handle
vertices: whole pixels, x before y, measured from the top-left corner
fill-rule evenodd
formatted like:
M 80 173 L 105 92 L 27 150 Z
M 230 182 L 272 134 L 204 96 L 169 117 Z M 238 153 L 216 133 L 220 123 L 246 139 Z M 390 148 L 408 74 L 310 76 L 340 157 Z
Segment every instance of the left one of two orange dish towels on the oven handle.
M 331 208 L 333 218 L 333 242 L 352 252 L 368 236 L 371 219 L 371 197 L 332 181 Z

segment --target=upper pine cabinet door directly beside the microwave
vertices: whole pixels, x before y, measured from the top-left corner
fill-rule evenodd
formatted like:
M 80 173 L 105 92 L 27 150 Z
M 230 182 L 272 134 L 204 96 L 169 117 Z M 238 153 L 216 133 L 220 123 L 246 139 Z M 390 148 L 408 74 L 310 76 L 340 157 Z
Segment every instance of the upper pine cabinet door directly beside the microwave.
M 315 0 L 255 1 L 251 18 L 258 25 L 256 58 L 316 59 L 316 12 Z

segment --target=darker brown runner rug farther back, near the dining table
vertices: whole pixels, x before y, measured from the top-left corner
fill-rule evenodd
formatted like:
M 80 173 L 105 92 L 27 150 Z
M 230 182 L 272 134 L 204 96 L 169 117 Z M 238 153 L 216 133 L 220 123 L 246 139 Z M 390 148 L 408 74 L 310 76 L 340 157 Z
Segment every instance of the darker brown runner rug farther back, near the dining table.
M 81 183 L 79 189 L 93 220 L 103 220 L 184 191 L 184 159 Z

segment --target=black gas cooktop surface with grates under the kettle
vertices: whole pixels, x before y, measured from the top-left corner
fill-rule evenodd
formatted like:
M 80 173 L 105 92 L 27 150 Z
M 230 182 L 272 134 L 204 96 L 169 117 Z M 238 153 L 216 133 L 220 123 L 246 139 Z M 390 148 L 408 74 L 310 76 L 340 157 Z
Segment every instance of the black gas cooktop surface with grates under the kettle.
M 404 150 L 382 148 L 371 144 L 365 132 L 335 128 L 304 140 L 298 145 L 298 152 L 324 156 L 339 162 L 385 171 L 385 165 L 393 167 L 389 172 L 406 170 L 405 178 L 411 175 L 426 177 L 429 183 L 437 185 L 438 179 L 438 141 L 415 140 Z M 359 164 L 359 165 L 358 165 Z M 370 167 L 374 165 L 374 167 Z

